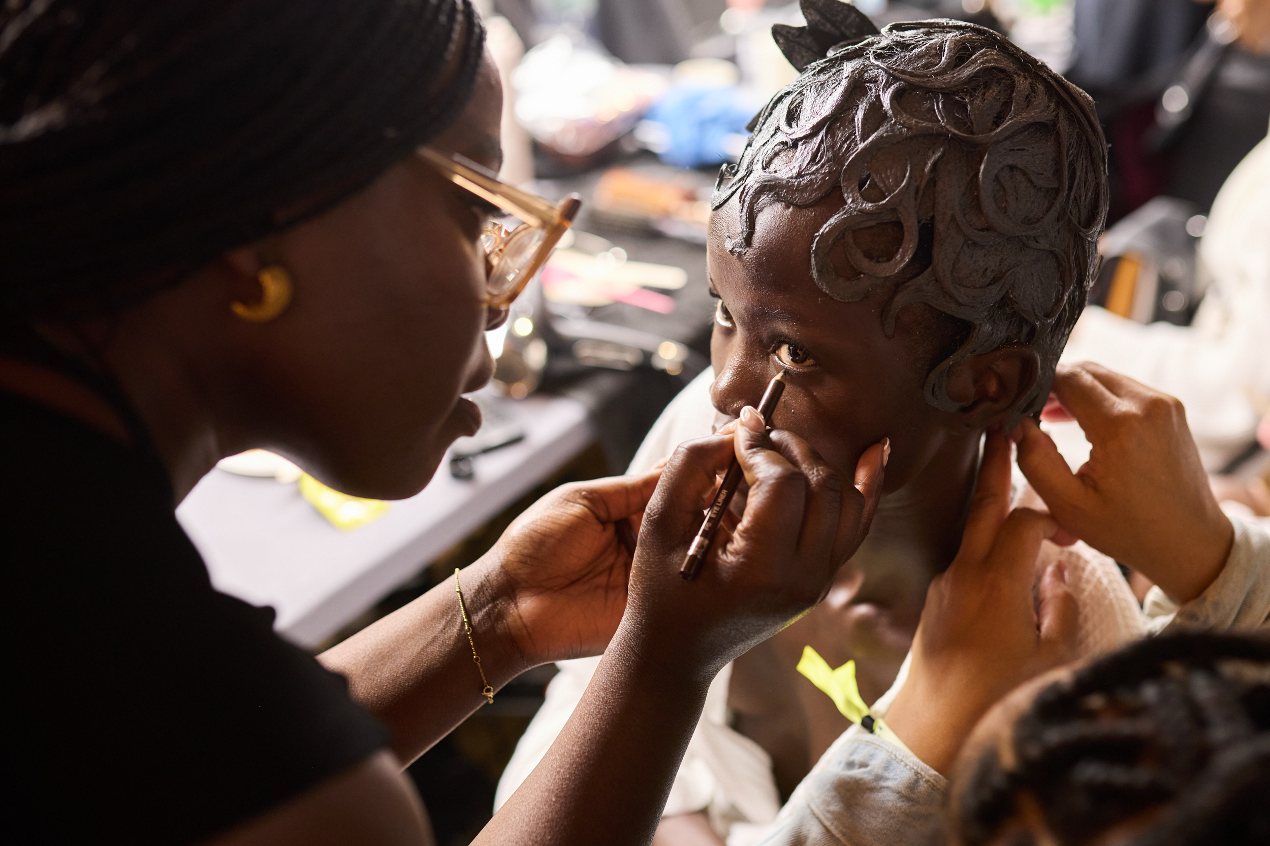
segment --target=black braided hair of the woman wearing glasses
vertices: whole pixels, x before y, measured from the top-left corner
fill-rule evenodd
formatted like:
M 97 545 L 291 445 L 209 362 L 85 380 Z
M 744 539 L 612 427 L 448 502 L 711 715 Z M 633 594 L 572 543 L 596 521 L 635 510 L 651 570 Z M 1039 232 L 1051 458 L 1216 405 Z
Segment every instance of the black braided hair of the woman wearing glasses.
M 469 0 L 0 5 L 0 304 L 102 306 L 364 188 L 464 109 Z

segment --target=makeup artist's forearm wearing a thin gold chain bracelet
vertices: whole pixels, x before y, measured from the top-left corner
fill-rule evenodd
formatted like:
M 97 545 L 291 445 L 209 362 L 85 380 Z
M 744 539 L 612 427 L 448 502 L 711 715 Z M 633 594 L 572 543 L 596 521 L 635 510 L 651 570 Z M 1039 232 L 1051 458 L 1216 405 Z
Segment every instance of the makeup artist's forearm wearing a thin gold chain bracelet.
M 481 668 L 494 690 L 528 668 L 507 629 L 508 604 L 488 557 L 462 571 L 464 601 Z M 464 633 L 453 578 L 319 656 L 349 694 L 392 731 L 409 764 L 480 705 L 480 671 Z

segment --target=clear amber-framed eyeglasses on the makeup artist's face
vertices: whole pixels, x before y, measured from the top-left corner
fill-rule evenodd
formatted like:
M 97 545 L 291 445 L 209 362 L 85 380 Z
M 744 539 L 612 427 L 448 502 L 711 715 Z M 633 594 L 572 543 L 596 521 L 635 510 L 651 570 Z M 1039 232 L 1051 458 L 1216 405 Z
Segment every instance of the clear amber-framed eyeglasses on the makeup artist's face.
M 480 236 L 485 250 L 485 306 L 507 308 L 546 264 L 560 236 L 573 225 L 582 199 L 570 194 L 559 204 L 552 204 L 542 197 L 499 181 L 484 167 L 462 156 L 446 156 L 427 147 L 420 147 L 417 152 L 453 184 L 522 221 L 513 228 L 491 221 L 485 225 Z

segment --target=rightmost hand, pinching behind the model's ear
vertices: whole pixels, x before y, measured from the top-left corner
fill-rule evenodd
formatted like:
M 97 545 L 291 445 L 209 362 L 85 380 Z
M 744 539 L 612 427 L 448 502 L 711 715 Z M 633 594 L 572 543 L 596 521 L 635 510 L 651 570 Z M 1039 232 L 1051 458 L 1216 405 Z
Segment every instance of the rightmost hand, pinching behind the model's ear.
M 1053 394 L 1093 448 L 1072 473 L 1049 435 L 1021 424 L 1019 467 L 1050 514 L 1175 601 L 1199 596 L 1222 572 L 1234 530 L 1181 402 L 1097 364 L 1060 365 Z

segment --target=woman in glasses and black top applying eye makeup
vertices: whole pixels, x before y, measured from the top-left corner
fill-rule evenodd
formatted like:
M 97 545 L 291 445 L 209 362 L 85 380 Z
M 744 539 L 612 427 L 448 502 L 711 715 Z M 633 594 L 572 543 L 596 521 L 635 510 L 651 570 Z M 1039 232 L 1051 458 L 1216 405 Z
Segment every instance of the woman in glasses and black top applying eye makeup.
M 852 486 L 751 413 L 660 473 L 556 491 L 319 660 L 211 587 L 173 509 L 221 457 L 405 497 L 480 425 L 483 330 L 577 211 L 490 178 L 481 44 L 466 0 L 0 8 L 5 761 L 29 842 L 428 842 L 401 766 L 525 668 L 601 651 L 479 842 L 646 842 L 711 677 L 859 544 L 881 445 Z M 744 517 L 683 582 L 733 455 Z

